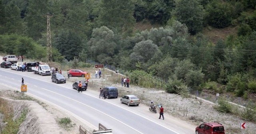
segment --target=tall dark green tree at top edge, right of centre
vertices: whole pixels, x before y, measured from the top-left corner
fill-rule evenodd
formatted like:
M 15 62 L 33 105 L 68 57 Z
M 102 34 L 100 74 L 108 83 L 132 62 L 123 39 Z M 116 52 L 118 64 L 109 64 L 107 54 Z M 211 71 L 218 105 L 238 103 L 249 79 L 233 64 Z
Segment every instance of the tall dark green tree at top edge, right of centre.
M 204 10 L 199 0 L 175 0 L 172 14 L 195 35 L 203 29 Z

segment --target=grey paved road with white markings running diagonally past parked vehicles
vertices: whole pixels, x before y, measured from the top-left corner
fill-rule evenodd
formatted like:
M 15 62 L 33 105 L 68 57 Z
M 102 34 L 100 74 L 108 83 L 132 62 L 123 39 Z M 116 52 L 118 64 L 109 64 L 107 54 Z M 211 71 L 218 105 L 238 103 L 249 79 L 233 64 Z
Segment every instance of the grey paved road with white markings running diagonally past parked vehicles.
M 136 112 L 135 109 L 143 107 L 142 104 L 128 107 L 120 104 L 120 99 L 99 99 L 89 91 L 78 93 L 71 88 L 70 83 L 58 85 L 51 83 L 49 76 L 0 68 L 0 84 L 12 85 L 20 89 L 21 77 L 24 77 L 25 84 L 28 85 L 28 93 L 56 104 L 94 126 L 98 126 L 98 123 L 104 124 L 112 129 L 114 134 L 194 133 L 194 130 L 186 128 L 185 124 L 174 122 L 172 126 L 168 126 L 170 122 L 167 117 L 164 120 L 166 123 L 162 123 L 160 121 L 163 120 L 153 120 L 150 116 L 143 115 L 143 112 Z M 45 78 L 48 80 L 45 81 Z

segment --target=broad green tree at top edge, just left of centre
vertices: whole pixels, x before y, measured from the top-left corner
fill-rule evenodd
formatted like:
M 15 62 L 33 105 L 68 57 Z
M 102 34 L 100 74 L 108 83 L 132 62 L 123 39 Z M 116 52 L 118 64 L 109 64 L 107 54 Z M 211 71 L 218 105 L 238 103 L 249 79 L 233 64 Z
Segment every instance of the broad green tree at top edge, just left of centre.
M 132 32 L 135 24 L 133 0 L 101 0 L 98 10 L 98 26 L 106 26 L 117 33 Z

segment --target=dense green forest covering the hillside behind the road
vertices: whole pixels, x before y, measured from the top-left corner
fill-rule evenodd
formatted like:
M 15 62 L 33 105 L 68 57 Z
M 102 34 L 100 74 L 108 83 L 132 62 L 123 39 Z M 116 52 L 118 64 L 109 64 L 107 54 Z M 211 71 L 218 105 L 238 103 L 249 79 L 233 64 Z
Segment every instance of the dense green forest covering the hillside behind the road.
M 0 52 L 113 65 L 169 93 L 256 95 L 256 0 L 0 0 Z M 150 24 L 141 29 L 138 24 Z M 213 41 L 205 29 L 235 28 Z

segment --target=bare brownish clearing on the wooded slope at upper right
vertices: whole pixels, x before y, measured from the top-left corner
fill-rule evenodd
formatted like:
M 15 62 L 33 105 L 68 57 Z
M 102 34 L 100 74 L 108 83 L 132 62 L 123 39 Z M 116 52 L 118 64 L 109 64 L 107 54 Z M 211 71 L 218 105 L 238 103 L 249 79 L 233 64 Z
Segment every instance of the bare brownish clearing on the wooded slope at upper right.
M 227 27 L 222 29 L 207 27 L 204 28 L 202 33 L 206 35 L 206 37 L 212 41 L 213 43 L 216 43 L 219 39 L 226 39 L 228 35 L 234 35 L 237 36 L 238 26 L 236 27 Z

